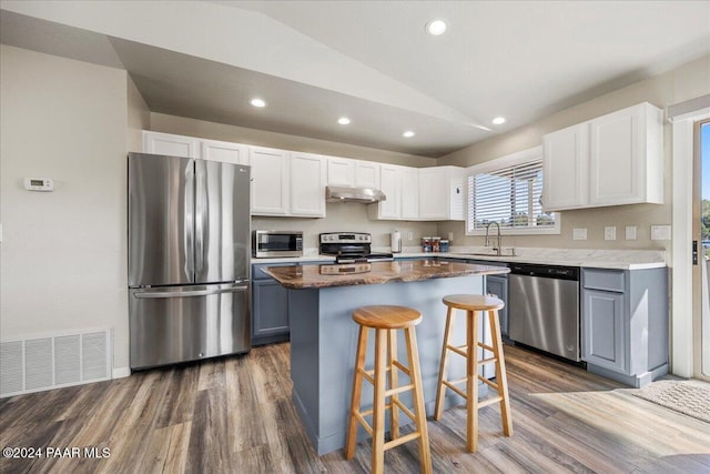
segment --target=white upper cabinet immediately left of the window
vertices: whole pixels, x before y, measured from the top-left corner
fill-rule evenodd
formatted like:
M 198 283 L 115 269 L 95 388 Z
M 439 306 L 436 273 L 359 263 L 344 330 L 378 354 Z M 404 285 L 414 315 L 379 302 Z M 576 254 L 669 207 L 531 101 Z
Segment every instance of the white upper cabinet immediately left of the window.
M 464 170 L 458 167 L 419 169 L 419 219 L 464 220 Z

